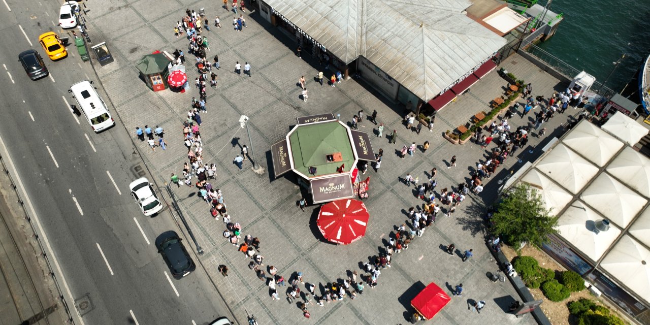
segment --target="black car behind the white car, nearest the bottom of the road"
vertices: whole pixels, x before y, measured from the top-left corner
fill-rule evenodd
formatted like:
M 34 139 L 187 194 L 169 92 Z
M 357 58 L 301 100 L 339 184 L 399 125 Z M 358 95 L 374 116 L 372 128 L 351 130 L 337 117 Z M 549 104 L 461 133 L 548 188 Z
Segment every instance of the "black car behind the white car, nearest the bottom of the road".
M 192 257 L 185 250 L 181 238 L 175 231 L 161 233 L 156 239 L 156 248 L 162 254 L 164 262 L 167 263 L 175 279 L 183 278 L 196 269 Z

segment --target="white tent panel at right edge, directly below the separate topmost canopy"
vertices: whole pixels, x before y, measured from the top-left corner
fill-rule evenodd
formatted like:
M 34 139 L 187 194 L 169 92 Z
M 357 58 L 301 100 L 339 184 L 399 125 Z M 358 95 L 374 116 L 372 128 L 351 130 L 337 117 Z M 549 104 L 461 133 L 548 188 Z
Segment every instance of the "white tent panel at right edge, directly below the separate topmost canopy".
M 607 166 L 607 172 L 650 197 L 650 159 L 627 147 Z

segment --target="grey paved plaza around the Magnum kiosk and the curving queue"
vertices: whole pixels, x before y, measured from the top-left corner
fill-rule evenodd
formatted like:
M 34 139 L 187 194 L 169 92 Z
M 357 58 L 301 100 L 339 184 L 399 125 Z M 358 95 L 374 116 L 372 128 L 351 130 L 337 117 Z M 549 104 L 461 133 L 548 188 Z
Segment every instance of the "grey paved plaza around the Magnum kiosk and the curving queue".
M 203 32 L 210 43 L 207 57 L 211 59 L 218 54 L 222 66 L 220 70 L 213 69 L 219 76 L 218 86 L 216 90 L 207 90 L 207 113 L 201 114 L 203 161 L 218 166 L 216 180 L 211 183 L 224 192 L 228 212 L 233 222 L 242 225 L 242 235 L 259 237 L 265 264 L 276 266 L 278 274 L 286 279 L 293 272 L 303 272 L 305 282 L 315 283 L 320 295 L 319 283 L 347 278 L 348 270 L 361 274 L 360 263 L 376 255 L 395 227 L 407 222 L 409 207 L 421 205 L 422 200 L 413 195 L 413 187 L 400 182 L 400 177 L 410 173 L 422 181 L 429 170 L 437 167 L 437 190 L 469 179 L 469 172 L 476 162 L 484 160 L 487 151 L 471 142 L 462 146 L 451 144 L 441 135 L 447 129 L 469 122 L 476 112 L 489 110 L 489 102 L 503 94 L 506 81 L 497 72 L 489 73 L 437 114 L 432 132 L 423 129 L 418 135 L 402 124 L 405 114 L 402 105 L 387 101 L 363 82 L 353 79 L 335 88 L 318 85 L 314 81 L 318 60 L 305 53 L 298 59 L 293 51 L 296 44 L 257 14 L 247 11 L 244 16 L 248 27 L 242 32 L 233 31 L 233 13 L 226 12 L 219 6 L 221 4 L 220 1 L 183 0 L 92 3 L 92 10 L 88 12 L 90 33 L 96 42 L 107 42 L 115 58 L 115 62 L 105 67 L 98 66 L 99 79 L 157 183 L 168 182 L 172 173 L 181 174 L 183 163 L 187 161 L 182 122 L 187 118 L 192 97 L 199 97 L 193 83 L 198 76 L 194 57 L 187 53 L 187 39 L 176 38 L 173 27 L 185 15 L 185 8 L 204 7 L 211 25 L 214 16 L 219 15 L 223 28 L 211 26 L 211 31 Z M 172 53 L 174 49 L 185 51 L 190 90 L 185 94 L 168 90 L 151 92 L 138 79 L 136 60 L 155 50 Z M 233 73 L 237 60 L 251 64 L 252 77 Z M 526 83 L 532 83 L 535 96 L 548 98 L 553 90 L 564 90 L 566 86 L 519 55 L 506 59 L 501 66 Z M 306 103 L 299 98 L 300 87 L 296 86 L 301 75 L 305 75 L 309 90 Z M 331 71 L 325 71 L 325 75 L 329 77 Z M 348 246 L 335 246 L 324 242 L 315 226 L 319 206 L 310 206 L 305 212 L 296 208 L 296 201 L 301 197 L 296 177 L 289 173 L 274 179 L 269 174 L 270 146 L 287 135 L 298 116 L 333 112 L 341 114 L 342 120 L 350 121 L 359 110 L 364 110 L 365 116 L 377 110 L 377 121 L 386 125 L 384 135 L 396 129 L 398 140 L 396 144 L 389 144 L 385 136 L 374 136 L 375 125 L 369 120 L 359 125 L 361 131 L 370 134 L 375 152 L 383 148 L 384 159 L 378 172 L 369 168 L 363 175 L 363 179 L 370 176 L 370 198 L 365 201 L 370 213 L 366 236 Z M 296 302 L 288 304 L 283 299 L 283 287 L 278 288 L 282 299 L 271 299 L 265 282 L 248 268 L 250 260 L 222 237 L 224 223 L 211 217 L 210 205 L 197 197 L 194 188 L 172 185 L 172 189 L 205 250 L 200 257 L 201 263 L 240 324 L 246 323 L 246 311 L 254 313 L 259 324 L 406 324 L 405 315 L 412 312 L 411 298 L 430 282 L 443 289 L 447 287 L 449 294 L 450 287 L 458 283 L 463 283 L 465 288 L 462 297 L 452 297 L 450 304 L 435 317 L 435 324 L 533 324 L 530 315 L 515 318 L 504 311 L 512 301 L 511 296 L 519 299 L 512 285 L 508 281 L 492 283 L 486 276 L 487 272 L 497 270 L 497 264 L 484 244 L 481 217 L 485 205 L 497 195 L 498 181 L 522 165 L 518 159 L 530 161 L 538 157 L 541 153 L 538 144 L 546 144 L 552 135 L 558 135 L 559 125 L 574 112 L 569 109 L 545 123 L 549 130 L 546 138 L 531 137 L 530 148 L 520 149 L 517 157 L 510 157 L 491 177 L 481 196 L 470 196 L 450 218 L 438 214 L 435 224 L 422 237 L 416 237 L 408 250 L 395 254 L 393 266 L 382 270 L 376 288 L 367 286 L 356 300 L 346 298 L 324 307 L 311 304 L 309 320 L 302 316 Z M 253 153 L 265 168 L 263 175 L 250 169 L 250 161 L 244 162 L 241 171 L 232 163 L 240 153 L 239 144 L 248 145 L 246 130 L 241 129 L 238 122 L 242 114 L 250 117 Z M 525 119 L 515 116 L 511 125 L 522 125 L 531 116 Z M 136 139 L 135 127 L 145 124 L 165 129 L 166 151 L 159 148 L 154 153 L 146 142 Z M 233 138 L 239 139 L 239 144 L 234 143 Z M 415 157 L 407 155 L 404 160 L 396 154 L 404 144 L 422 145 L 425 140 L 431 143 L 426 153 L 418 151 Z M 446 162 L 452 155 L 458 157 L 458 166 L 448 169 Z M 474 257 L 462 263 L 460 257 L 452 257 L 441 250 L 441 245 L 452 242 L 461 251 L 473 248 Z M 217 270 L 222 264 L 230 268 L 227 278 Z M 191 278 L 183 279 L 181 285 Z M 485 300 L 487 305 L 478 315 L 468 310 L 468 300 Z

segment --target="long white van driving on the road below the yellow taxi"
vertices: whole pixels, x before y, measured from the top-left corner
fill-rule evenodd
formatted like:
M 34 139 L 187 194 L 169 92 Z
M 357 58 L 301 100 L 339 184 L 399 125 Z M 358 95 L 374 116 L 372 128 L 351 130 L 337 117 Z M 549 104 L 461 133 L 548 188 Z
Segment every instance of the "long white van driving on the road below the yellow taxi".
M 72 96 L 79 104 L 81 112 L 86 116 L 93 131 L 99 133 L 115 125 L 115 121 L 110 116 L 106 103 L 99 97 L 97 90 L 92 86 L 92 81 L 80 81 L 70 86 Z

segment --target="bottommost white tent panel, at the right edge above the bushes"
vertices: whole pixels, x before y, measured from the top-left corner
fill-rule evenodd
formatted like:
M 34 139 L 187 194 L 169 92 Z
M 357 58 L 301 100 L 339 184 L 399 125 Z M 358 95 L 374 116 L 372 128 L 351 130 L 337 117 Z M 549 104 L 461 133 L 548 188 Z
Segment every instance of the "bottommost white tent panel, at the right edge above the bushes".
M 650 301 L 650 250 L 628 235 L 612 248 L 601 267 L 619 282 Z

